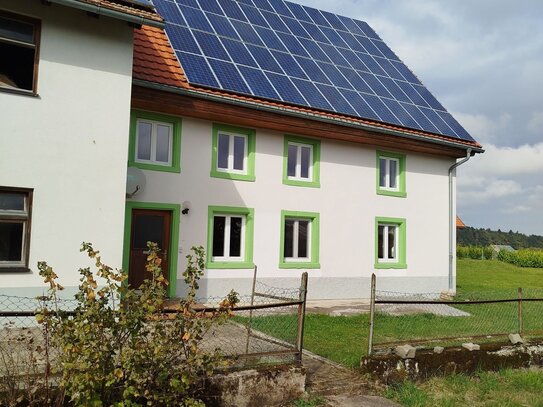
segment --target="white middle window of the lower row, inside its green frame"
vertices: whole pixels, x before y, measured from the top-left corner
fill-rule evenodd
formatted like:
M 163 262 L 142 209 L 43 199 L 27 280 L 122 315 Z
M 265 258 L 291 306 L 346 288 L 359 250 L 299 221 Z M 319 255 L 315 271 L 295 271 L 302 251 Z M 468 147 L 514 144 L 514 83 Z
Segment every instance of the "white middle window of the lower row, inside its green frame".
M 285 261 L 310 261 L 311 221 L 309 219 L 285 218 Z

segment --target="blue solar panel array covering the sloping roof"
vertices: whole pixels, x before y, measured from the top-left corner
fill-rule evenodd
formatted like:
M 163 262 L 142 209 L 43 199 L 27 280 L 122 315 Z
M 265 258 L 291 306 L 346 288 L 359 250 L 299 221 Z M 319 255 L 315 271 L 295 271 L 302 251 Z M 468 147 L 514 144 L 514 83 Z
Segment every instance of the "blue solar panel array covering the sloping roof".
M 153 0 L 189 83 L 473 141 L 363 21 L 283 0 Z

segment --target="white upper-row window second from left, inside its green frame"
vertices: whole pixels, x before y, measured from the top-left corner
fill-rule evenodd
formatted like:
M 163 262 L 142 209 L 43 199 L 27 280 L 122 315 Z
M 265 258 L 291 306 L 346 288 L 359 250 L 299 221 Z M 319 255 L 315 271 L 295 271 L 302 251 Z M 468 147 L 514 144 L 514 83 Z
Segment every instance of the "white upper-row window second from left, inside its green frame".
M 217 171 L 247 173 L 247 136 L 219 132 L 217 146 Z

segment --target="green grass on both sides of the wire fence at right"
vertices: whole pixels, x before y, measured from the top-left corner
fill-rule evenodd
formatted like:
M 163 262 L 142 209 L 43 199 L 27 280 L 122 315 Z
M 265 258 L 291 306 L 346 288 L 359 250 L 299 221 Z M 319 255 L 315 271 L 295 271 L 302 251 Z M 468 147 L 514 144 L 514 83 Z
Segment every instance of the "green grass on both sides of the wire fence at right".
M 518 287 L 523 287 L 525 297 L 543 297 L 543 269 L 520 268 L 497 260 L 463 259 L 457 262 L 457 280 L 460 298 L 514 297 Z M 393 317 L 379 314 L 376 339 L 516 331 L 516 303 L 458 308 L 471 316 L 452 318 L 417 314 Z M 542 308 L 541 303 L 524 303 L 525 329 L 541 329 Z M 270 327 L 285 323 L 295 323 L 295 316 L 274 315 L 254 320 L 256 329 L 277 337 L 282 336 L 281 331 Z M 304 347 L 346 366 L 357 367 L 360 358 L 367 353 L 368 323 L 367 314 L 345 317 L 308 314 Z M 471 377 L 451 375 L 418 384 L 406 381 L 389 387 L 384 395 L 409 407 L 543 407 L 543 371 L 504 370 L 481 372 Z

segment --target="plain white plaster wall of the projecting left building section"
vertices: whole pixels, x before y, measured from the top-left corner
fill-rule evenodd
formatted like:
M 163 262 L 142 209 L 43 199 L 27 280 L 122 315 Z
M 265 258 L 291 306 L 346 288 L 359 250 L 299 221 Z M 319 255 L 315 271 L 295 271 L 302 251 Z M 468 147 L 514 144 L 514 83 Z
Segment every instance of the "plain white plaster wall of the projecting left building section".
M 122 260 L 132 29 L 39 1 L 0 8 L 42 22 L 39 97 L 0 92 L 0 185 L 34 188 L 32 271 L 2 273 L 0 287 L 41 290 L 39 260 L 75 286 L 82 241 Z

